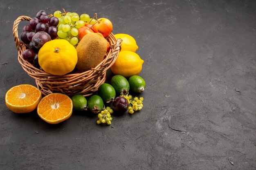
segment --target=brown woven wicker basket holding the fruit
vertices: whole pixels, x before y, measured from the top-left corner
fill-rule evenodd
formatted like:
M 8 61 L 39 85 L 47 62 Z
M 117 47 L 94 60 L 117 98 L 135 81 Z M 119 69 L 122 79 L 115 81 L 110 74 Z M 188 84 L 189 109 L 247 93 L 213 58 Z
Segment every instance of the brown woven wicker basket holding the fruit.
M 63 93 L 69 96 L 81 94 L 90 96 L 98 90 L 99 86 L 106 80 L 106 71 L 114 64 L 121 48 L 121 39 L 116 39 L 111 33 L 108 37 L 110 43 L 109 52 L 106 53 L 103 61 L 95 68 L 83 73 L 67 74 L 56 76 L 35 68 L 32 64 L 22 58 L 22 52 L 27 48 L 18 38 L 18 24 L 22 20 L 29 21 L 27 16 L 18 17 L 13 24 L 13 37 L 18 50 L 18 61 L 28 75 L 36 80 L 38 89 L 47 95 L 50 93 Z

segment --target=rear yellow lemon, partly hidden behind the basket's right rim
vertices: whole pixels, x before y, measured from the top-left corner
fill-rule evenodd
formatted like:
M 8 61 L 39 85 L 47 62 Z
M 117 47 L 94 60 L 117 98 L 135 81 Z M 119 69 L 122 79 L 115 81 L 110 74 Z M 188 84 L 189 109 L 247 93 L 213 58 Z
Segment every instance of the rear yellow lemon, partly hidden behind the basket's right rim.
M 136 52 L 139 48 L 136 44 L 135 39 L 128 34 L 115 34 L 116 38 L 121 38 L 121 51 L 132 51 Z

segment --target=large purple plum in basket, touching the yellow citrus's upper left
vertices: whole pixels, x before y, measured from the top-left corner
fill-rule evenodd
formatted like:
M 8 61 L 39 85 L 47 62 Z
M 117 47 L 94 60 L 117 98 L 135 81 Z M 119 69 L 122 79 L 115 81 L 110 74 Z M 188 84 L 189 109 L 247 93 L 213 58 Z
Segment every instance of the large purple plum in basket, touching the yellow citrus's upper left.
M 48 33 L 39 31 L 33 36 L 32 43 L 37 49 L 40 49 L 43 46 L 43 44 L 50 40 L 51 36 Z

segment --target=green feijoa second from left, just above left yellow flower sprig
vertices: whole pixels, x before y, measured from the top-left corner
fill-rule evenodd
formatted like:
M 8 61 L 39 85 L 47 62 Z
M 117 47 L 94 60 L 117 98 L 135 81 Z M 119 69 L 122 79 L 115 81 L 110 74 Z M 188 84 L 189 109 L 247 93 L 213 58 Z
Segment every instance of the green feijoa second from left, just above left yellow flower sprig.
M 92 95 L 88 99 L 88 108 L 92 113 L 98 114 L 103 109 L 103 100 L 98 95 Z

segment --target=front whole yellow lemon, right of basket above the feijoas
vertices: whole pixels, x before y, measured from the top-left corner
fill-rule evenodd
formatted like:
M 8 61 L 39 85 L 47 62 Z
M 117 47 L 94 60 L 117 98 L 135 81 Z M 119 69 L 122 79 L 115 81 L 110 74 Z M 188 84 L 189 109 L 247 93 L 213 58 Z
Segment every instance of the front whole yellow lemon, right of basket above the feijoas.
M 121 51 L 115 63 L 110 67 L 115 75 L 130 77 L 141 72 L 143 60 L 132 51 Z

